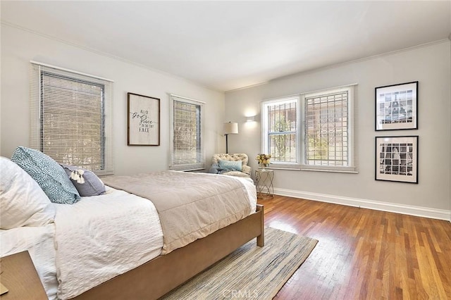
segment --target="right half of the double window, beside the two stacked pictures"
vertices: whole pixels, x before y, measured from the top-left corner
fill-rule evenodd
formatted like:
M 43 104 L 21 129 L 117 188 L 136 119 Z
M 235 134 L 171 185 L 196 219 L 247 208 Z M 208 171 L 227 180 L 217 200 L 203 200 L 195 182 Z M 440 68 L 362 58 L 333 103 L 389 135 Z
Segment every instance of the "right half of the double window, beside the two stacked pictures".
M 302 170 L 357 172 L 353 87 L 304 94 Z

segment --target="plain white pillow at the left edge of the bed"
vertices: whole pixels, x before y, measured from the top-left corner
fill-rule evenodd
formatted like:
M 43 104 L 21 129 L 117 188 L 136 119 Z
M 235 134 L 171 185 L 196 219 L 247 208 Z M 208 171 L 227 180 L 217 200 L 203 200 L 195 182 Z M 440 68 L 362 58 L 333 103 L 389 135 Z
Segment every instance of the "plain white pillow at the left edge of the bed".
M 16 163 L 0 156 L 0 228 L 54 222 L 55 207 L 37 182 Z

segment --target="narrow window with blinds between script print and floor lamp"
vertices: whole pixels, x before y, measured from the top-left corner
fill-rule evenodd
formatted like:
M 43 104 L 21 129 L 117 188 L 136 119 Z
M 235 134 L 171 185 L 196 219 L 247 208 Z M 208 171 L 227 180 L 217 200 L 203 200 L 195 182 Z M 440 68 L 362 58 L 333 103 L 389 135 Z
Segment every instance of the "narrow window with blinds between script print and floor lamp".
M 205 168 L 203 145 L 204 103 L 181 96 L 171 98 L 171 170 Z

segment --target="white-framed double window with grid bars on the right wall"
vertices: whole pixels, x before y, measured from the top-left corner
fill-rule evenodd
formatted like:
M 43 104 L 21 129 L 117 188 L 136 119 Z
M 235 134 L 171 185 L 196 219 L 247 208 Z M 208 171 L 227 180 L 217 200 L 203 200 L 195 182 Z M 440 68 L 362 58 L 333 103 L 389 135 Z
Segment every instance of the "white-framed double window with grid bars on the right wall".
M 273 168 L 357 172 L 353 86 L 262 102 L 262 151 Z

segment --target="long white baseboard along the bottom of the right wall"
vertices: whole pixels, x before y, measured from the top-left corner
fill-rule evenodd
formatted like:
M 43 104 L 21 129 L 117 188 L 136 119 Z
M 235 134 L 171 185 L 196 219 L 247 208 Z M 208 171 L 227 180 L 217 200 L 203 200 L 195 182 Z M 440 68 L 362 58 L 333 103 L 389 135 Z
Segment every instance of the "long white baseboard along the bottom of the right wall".
M 404 215 L 416 215 L 419 217 L 447 220 L 451 222 L 451 211 L 421 206 L 410 206 L 404 204 L 393 204 L 388 202 L 373 201 L 366 199 L 350 198 L 345 196 L 334 196 L 311 192 L 295 191 L 291 189 L 274 188 L 274 194 L 290 196 L 307 200 L 322 201 L 333 204 L 342 204 L 361 208 L 374 209 L 376 211 L 389 211 L 391 213 L 403 213 Z

